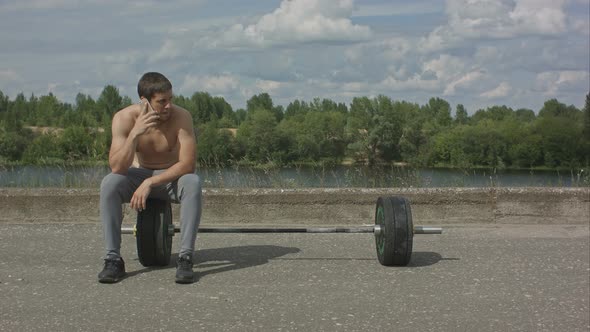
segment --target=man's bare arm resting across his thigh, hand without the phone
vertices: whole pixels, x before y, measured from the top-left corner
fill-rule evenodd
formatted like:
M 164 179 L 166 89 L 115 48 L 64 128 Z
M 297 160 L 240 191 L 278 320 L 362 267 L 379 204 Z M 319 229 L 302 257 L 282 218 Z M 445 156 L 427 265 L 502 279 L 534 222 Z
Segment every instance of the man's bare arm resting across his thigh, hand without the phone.
M 193 121 L 188 112 L 182 112 L 181 128 L 178 130 L 178 162 L 170 166 L 166 171 L 147 178 L 137 188 L 133 197 L 131 198 L 130 207 L 133 209 L 145 209 L 147 197 L 151 192 L 151 188 L 159 185 L 172 182 L 185 174 L 190 174 L 195 171 L 196 161 L 196 141 L 195 132 L 193 129 Z

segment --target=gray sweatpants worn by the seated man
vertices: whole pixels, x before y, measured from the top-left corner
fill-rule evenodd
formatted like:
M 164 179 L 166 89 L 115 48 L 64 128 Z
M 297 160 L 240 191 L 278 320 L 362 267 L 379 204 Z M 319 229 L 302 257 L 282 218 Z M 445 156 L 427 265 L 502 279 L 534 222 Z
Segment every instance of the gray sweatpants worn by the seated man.
M 129 168 L 127 175 L 110 173 L 100 184 L 100 220 L 103 226 L 106 256 L 121 257 L 121 223 L 123 203 L 129 203 L 141 183 L 165 170 Z M 152 188 L 150 198 L 180 203 L 179 255 L 192 257 L 201 220 L 201 180 L 185 174 L 176 181 Z

